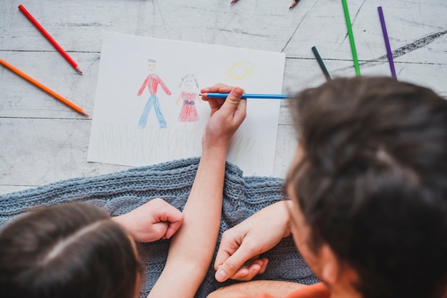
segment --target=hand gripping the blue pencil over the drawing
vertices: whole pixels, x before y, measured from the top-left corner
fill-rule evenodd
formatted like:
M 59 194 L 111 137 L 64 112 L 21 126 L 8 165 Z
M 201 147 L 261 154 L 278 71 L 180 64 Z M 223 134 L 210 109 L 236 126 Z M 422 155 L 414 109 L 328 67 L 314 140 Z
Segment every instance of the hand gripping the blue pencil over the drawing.
M 241 100 L 243 89 L 217 84 L 201 89 L 201 93 L 229 93 L 227 98 L 206 98 L 211 108 L 211 118 L 206 123 L 202 148 L 228 148 L 231 137 L 246 117 L 246 100 Z

